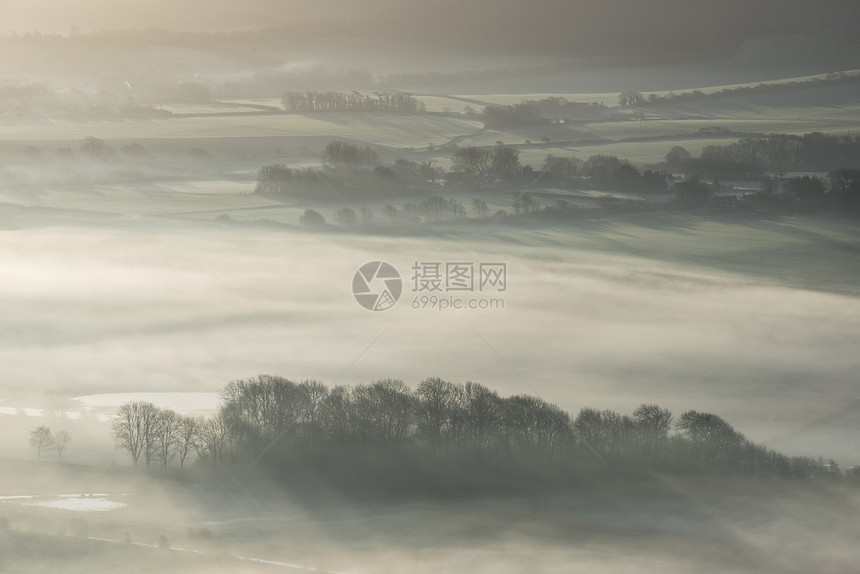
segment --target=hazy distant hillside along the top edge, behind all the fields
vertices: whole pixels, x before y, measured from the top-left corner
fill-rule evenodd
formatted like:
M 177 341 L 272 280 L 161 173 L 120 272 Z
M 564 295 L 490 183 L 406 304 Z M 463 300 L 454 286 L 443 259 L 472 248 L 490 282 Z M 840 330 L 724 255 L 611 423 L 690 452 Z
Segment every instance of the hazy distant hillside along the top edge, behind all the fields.
M 127 0 L 100 1 L 98 10 L 91 9 L 93 2 L 47 0 L 32 9 L 12 0 L 4 3 L 0 28 L 64 34 L 221 29 L 233 37 L 269 28 L 271 34 L 256 39 L 360 35 L 494 55 L 599 56 L 627 63 L 729 58 L 769 37 L 813 38 L 831 47 L 860 43 L 856 0 L 187 0 L 180 6 Z

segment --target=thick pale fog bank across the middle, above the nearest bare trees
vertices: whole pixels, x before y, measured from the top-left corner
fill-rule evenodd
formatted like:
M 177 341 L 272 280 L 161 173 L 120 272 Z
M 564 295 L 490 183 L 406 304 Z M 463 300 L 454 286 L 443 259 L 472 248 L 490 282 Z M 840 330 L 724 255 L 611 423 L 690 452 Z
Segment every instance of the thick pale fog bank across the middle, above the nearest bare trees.
M 678 233 L 671 225 L 597 231 L 604 241 L 621 235 L 616 249 L 578 248 L 584 231 L 569 229 L 417 238 L 201 225 L 7 231 L 4 394 L 214 392 L 258 373 L 347 384 L 440 376 L 570 411 L 641 402 L 711 410 L 759 441 L 857 398 L 853 296 L 661 261 L 676 254 L 649 247 L 666 249 L 660 240 Z M 625 234 L 653 244 L 632 258 Z M 367 312 L 350 292 L 355 270 L 376 259 L 408 286 L 390 313 Z M 409 290 L 413 263 L 454 260 L 507 263 L 504 309 L 411 308 L 420 296 Z M 779 447 L 853 463 L 860 453 L 842 422 Z

